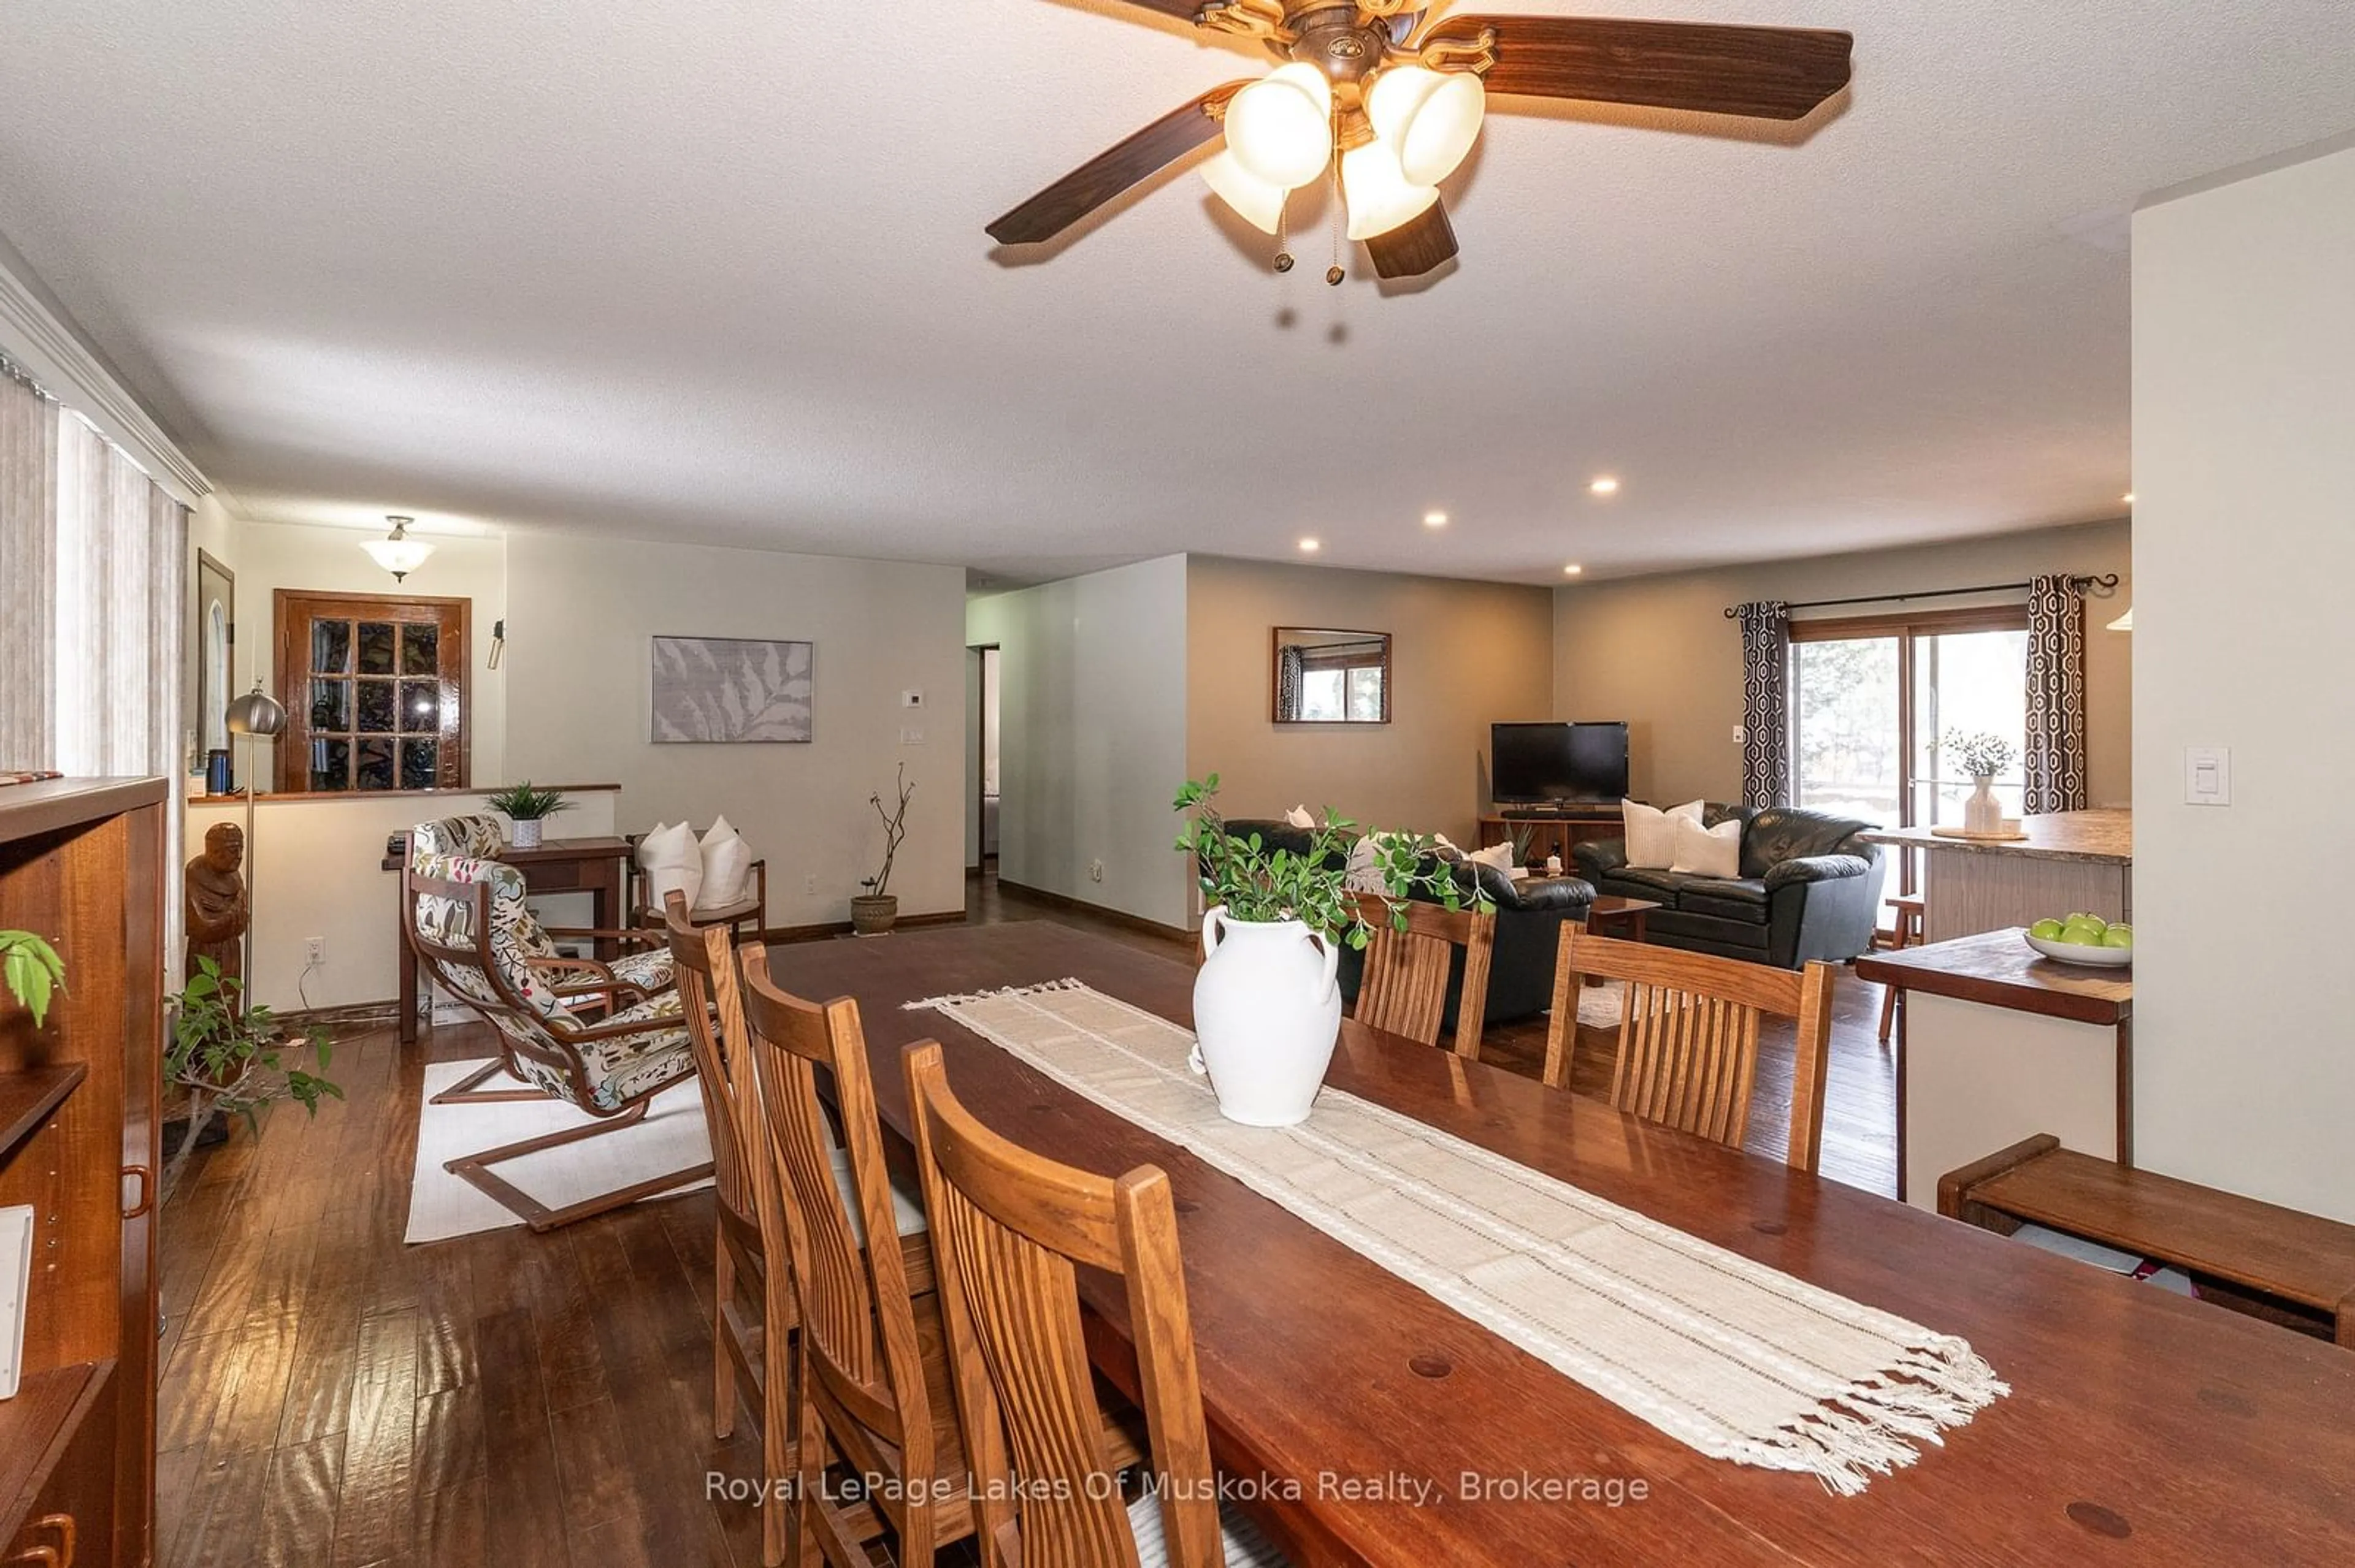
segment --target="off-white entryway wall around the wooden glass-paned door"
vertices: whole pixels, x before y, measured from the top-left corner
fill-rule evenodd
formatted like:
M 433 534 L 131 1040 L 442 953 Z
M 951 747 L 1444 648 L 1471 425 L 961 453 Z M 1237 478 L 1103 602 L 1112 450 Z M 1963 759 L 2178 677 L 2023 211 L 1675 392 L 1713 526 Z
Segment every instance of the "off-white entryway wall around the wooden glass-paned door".
M 506 678 L 490 669 L 490 629 L 506 614 L 506 542 L 497 537 L 433 537 L 433 556 L 396 584 L 391 572 L 370 560 L 360 549 L 367 534 L 353 527 L 320 527 L 306 523 L 238 523 L 233 530 L 236 551 L 228 560 L 238 574 L 238 690 L 247 692 L 254 678 L 261 690 L 278 695 L 276 678 L 276 593 L 278 589 L 313 589 L 327 593 L 426 593 L 433 598 L 466 598 L 471 607 L 473 652 L 473 713 L 466 720 L 469 770 L 466 784 L 497 789 L 513 784 L 506 777 Z M 210 546 L 207 546 L 210 549 Z M 219 551 L 214 551 L 219 556 Z M 193 558 L 191 558 L 193 560 Z M 276 751 L 266 742 L 238 742 L 233 763 L 245 770 L 245 751 L 252 746 L 254 760 L 264 768 L 261 789 L 276 789 Z M 568 770 L 560 784 L 598 784 L 579 770 Z

